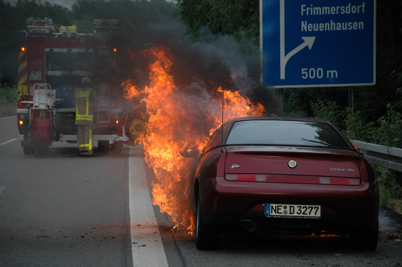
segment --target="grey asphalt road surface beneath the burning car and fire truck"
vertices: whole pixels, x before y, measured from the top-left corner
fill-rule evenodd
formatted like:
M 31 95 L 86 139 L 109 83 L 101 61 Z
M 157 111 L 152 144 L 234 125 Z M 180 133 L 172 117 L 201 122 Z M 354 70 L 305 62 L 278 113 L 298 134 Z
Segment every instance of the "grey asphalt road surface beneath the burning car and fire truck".
M 347 236 L 238 230 L 222 234 L 219 249 L 198 251 L 194 235 L 172 231 L 152 205 L 154 173 L 139 147 L 81 158 L 76 144 L 58 142 L 47 156 L 26 156 L 16 138 L 16 117 L 0 119 L 1 267 L 402 265 L 402 242 L 387 238 L 401 228 L 384 211 L 375 251 L 354 251 Z

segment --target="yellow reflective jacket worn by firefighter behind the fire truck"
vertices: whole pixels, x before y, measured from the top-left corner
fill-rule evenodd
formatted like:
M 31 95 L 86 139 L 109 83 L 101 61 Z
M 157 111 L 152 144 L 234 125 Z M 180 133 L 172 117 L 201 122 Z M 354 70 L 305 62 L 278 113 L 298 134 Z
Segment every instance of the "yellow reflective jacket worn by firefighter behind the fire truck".
M 94 89 L 76 88 L 74 102 L 76 106 L 75 124 L 92 125 L 94 120 L 94 110 L 92 104 L 96 101 Z

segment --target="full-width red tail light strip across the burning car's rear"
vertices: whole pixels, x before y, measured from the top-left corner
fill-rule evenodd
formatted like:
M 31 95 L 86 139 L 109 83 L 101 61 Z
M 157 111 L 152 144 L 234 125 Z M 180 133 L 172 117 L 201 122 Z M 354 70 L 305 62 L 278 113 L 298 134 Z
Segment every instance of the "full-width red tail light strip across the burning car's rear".
M 302 183 L 321 185 L 360 185 L 360 179 L 345 177 L 319 177 L 306 175 L 271 175 L 271 174 L 226 174 L 227 181 L 266 182 L 266 183 Z

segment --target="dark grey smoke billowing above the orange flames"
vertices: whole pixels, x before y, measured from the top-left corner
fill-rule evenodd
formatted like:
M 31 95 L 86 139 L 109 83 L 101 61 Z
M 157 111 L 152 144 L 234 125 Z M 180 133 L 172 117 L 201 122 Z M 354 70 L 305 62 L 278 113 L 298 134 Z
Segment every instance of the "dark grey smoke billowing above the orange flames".
M 144 86 L 149 82 L 149 62 L 140 52 L 162 45 L 171 51 L 170 72 L 180 92 L 214 94 L 217 87 L 223 86 L 225 78 L 225 88 L 239 90 L 243 96 L 261 102 L 268 114 L 277 112 L 275 95 L 266 87 L 259 88 L 259 48 L 251 41 L 243 41 L 247 53 L 242 53 L 232 36 L 213 35 L 205 27 L 193 37 L 185 25 L 169 16 L 120 19 L 119 29 L 116 43 L 123 44 L 131 55 L 123 60 L 125 78 L 130 78 L 134 85 Z

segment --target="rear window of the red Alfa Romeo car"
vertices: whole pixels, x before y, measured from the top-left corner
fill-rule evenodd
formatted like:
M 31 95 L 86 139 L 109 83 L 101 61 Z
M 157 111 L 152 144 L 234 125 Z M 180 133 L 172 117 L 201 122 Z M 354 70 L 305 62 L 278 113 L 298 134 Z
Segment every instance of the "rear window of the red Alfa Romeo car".
M 236 121 L 225 144 L 324 146 L 351 149 L 343 136 L 330 125 L 309 121 Z

